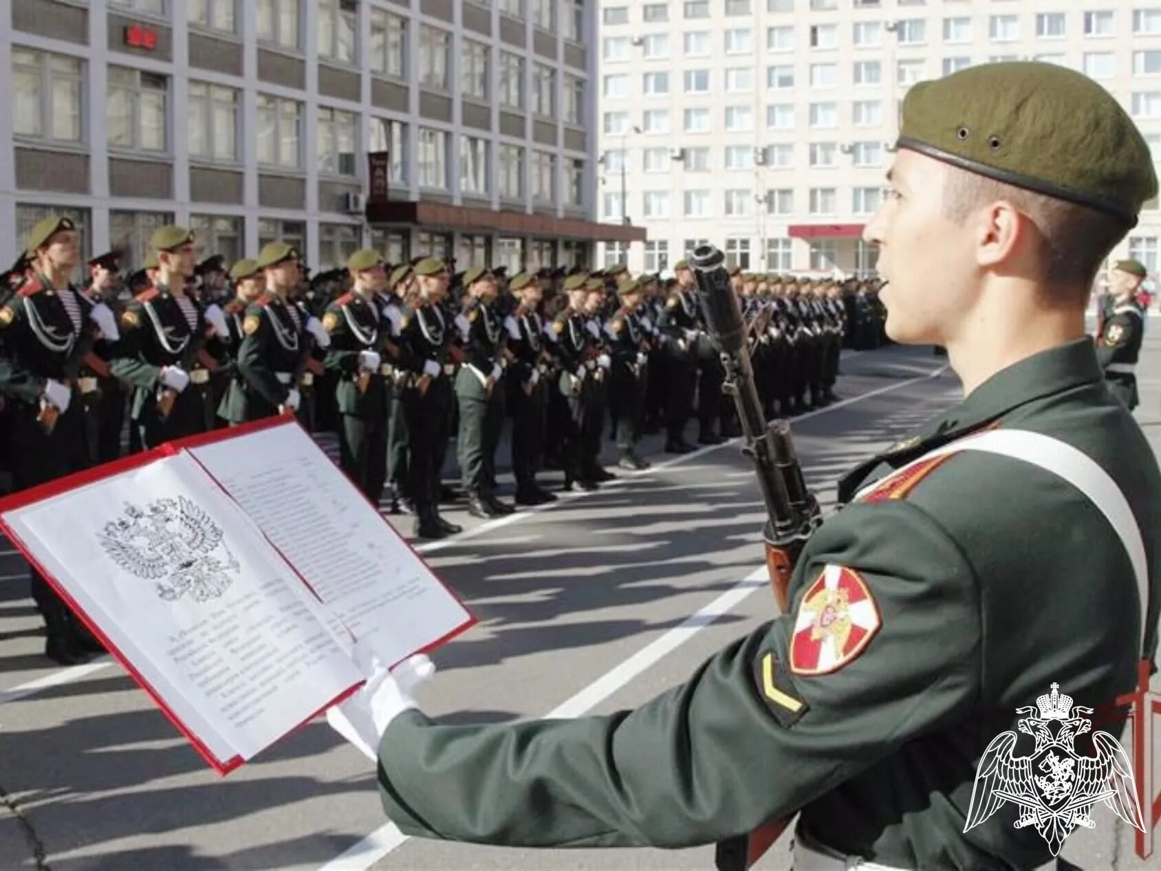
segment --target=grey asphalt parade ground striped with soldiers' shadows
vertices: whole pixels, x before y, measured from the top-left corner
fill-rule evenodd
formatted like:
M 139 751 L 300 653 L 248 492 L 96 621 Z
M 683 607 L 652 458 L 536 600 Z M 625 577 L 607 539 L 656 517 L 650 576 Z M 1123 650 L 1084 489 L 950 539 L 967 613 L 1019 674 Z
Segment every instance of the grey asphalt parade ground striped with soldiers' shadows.
M 1149 326 L 1137 416 L 1161 455 L 1161 323 Z M 926 347 L 844 354 L 841 401 L 793 420 L 824 506 L 843 472 L 958 402 L 945 363 Z M 439 671 L 419 692 L 427 713 L 503 721 L 634 706 L 774 616 L 750 461 L 737 441 L 673 458 L 661 439 L 642 445 L 651 469 L 616 470 L 593 494 L 491 521 L 445 506 L 464 532 L 419 550 L 479 622 L 433 655 Z M 561 473 L 542 477 L 555 489 Z M 411 518 L 389 519 L 410 533 Z M 43 647 L 23 560 L 0 541 L 0 871 L 713 868 L 709 847 L 533 851 L 404 838 L 385 822 L 373 765 L 322 718 L 221 778 L 118 664 L 62 669 Z M 1111 811 L 1097 806 L 1093 818 L 1095 829 L 1066 841 L 1072 862 L 1161 866 L 1158 855 L 1133 854 L 1132 830 Z M 788 840 L 759 868 L 788 869 Z

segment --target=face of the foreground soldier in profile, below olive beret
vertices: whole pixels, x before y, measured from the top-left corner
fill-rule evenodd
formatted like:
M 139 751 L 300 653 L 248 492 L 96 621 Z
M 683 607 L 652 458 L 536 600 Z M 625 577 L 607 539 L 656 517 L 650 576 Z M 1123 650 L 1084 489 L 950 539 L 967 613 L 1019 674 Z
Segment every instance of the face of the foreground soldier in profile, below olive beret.
M 952 170 L 900 149 L 888 173 L 882 206 L 863 231 L 879 250 L 880 298 L 887 334 L 911 345 L 946 345 L 982 295 L 986 266 L 976 221 L 960 225 L 944 214 L 943 189 Z M 939 275 L 937 286 L 931 276 Z

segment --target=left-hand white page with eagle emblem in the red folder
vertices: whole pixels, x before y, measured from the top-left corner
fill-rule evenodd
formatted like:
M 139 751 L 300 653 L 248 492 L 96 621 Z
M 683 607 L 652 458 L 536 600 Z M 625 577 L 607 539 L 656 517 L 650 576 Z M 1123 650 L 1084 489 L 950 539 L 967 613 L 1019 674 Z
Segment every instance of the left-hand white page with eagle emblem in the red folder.
M 325 609 L 187 454 L 5 520 L 223 762 L 362 679 Z

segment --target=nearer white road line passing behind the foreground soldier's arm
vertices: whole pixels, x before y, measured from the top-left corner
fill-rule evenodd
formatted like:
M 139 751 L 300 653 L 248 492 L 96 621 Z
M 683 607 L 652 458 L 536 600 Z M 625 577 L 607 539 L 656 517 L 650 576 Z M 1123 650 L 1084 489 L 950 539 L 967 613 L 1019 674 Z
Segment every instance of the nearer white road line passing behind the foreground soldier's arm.
M 633 678 L 644 674 L 665 656 L 673 653 L 717 618 L 728 614 L 755 590 L 770 588 L 765 567 L 751 571 L 744 581 L 731 586 L 697 613 L 687 617 L 661 638 L 654 639 L 621 664 L 606 671 L 572 698 L 545 714 L 546 720 L 571 720 L 587 713 Z M 410 841 L 394 822 L 384 823 L 341 855 L 327 862 L 319 871 L 366 871 L 389 852 Z

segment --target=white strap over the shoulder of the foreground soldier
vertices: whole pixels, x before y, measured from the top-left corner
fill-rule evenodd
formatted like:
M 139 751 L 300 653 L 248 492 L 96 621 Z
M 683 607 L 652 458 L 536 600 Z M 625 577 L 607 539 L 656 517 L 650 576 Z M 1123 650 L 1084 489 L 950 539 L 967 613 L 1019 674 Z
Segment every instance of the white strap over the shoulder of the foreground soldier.
M 1137 525 L 1137 518 L 1133 517 L 1133 511 L 1128 506 L 1128 501 L 1109 473 L 1083 451 L 1051 436 L 1027 430 L 989 430 L 938 447 L 888 477 L 902 474 L 904 469 L 917 463 L 960 451 L 982 451 L 1039 466 L 1075 487 L 1104 514 L 1120 539 L 1120 544 L 1124 545 L 1137 577 L 1137 593 L 1140 598 L 1139 628 L 1144 647 L 1145 621 L 1148 619 L 1149 612 L 1149 573 L 1145 541 L 1141 538 L 1140 527 Z M 877 481 L 860 491 L 859 495 L 879 487 L 882 481 Z

